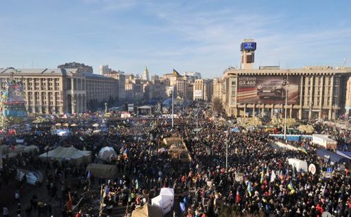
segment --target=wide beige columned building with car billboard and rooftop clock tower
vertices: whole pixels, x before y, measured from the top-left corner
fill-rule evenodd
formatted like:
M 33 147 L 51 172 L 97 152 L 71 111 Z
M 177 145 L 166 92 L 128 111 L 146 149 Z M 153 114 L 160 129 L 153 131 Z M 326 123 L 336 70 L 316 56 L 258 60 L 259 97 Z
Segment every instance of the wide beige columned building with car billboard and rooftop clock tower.
M 337 119 L 351 108 L 351 68 L 303 67 L 253 69 L 256 43 L 244 40 L 242 69 L 224 71 L 227 115 L 254 117 L 279 115 L 296 119 Z M 216 84 L 217 85 L 217 84 Z M 219 87 L 215 88 L 219 93 Z

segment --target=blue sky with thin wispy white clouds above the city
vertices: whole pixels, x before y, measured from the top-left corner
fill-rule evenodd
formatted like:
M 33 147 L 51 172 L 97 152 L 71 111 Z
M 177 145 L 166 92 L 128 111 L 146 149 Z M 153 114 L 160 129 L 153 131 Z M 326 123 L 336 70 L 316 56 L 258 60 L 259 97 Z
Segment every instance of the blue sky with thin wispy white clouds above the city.
M 221 77 L 257 42 L 255 67 L 351 65 L 351 1 L 0 1 L 0 68 L 83 62 Z M 346 61 L 345 61 L 346 60 Z

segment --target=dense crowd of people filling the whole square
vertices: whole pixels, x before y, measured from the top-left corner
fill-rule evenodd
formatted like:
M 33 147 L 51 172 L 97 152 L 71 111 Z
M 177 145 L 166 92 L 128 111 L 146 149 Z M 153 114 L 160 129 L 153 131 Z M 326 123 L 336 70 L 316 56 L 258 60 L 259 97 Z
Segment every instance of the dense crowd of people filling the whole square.
M 317 156 L 317 147 L 310 141 L 303 141 L 306 152 L 278 149 L 271 146 L 273 140 L 263 130 L 232 132 L 205 112 L 195 117 L 188 108 L 182 114 L 173 128 L 169 119 L 155 117 L 109 118 L 103 122 L 72 119 L 76 126 L 69 127 L 68 137 L 52 133 L 67 119 L 56 119 L 55 123 L 62 123 L 59 126 L 36 124 L 16 137 L 37 146 L 38 151 L 5 157 L 1 183 L 8 185 L 14 180 L 17 168 L 43 171 L 46 195 L 34 194 L 27 201 L 28 207 L 17 212 L 20 216 L 51 215 L 57 209 L 59 216 L 108 215 L 118 206 L 127 206 L 126 216 L 131 216 L 134 209 L 157 196 L 161 187 L 175 190 L 175 216 L 321 216 L 323 212 L 351 216 L 350 175 L 334 166 L 332 176 L 324 177 L 321 172 L 332 165 Z M 96 121 L 102 126 L 98 132 L 92 126 Z M 315 128 L 334 132 L 332 135 L 343 144 L 351 141 L 348 130 L 335 132 L 323 124 Z M 5 137 L 2 144 L 11 146 L 12 137 Z M 160 151 L 166 137 L 182 137 L 191 160 L 182 162 L 173 159 L 167 149 Z M 94 177 L 86 164 L 38 157 L 57 146 L 89 150 L 92 162 L 116 165 L 118 175 L 114 179 Z M 114 148 L 116 156 L 101 161 L 98 152 L 104 146 Z M 297 170 L 288 163 L 290 158 L 314 163 L 317 172 Z M 25 182 L 19 183 L 21 190 Z M 82 195 L 90 193 L 86 203 L 72 210 Z M 11 209 L 15 208 L 3 207 L 3 214 Z

